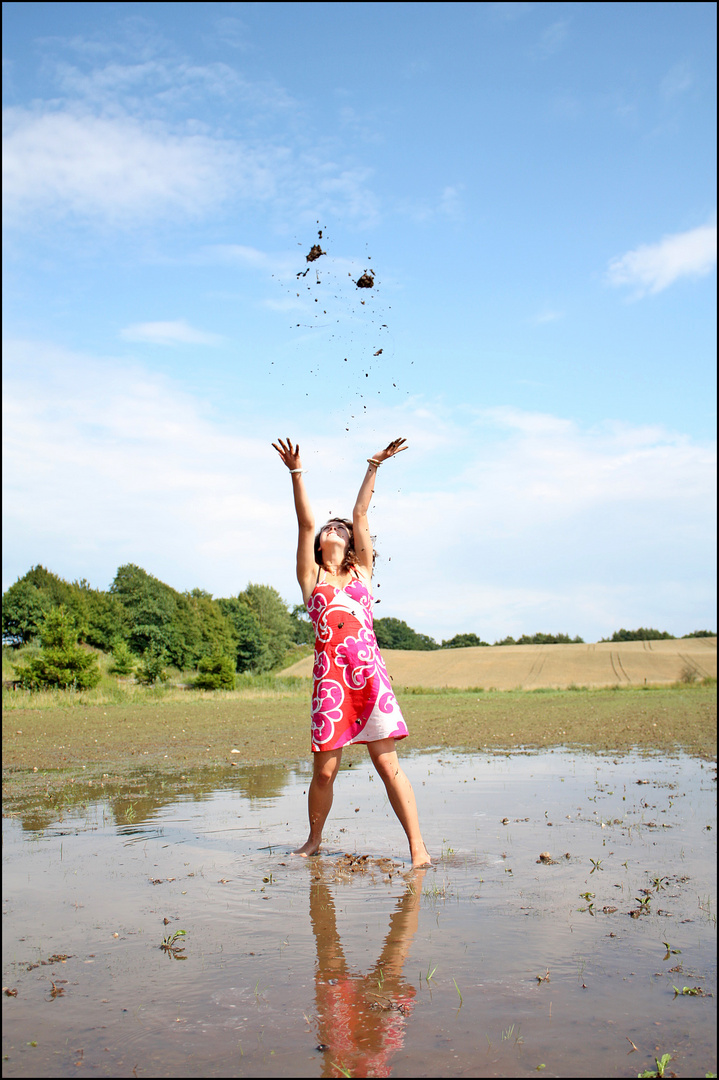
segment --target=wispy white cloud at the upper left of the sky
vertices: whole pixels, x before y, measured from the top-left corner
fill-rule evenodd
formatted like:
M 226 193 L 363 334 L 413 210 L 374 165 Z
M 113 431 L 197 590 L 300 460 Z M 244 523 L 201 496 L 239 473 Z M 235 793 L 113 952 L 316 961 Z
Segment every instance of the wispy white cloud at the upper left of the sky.
M 82 66 L 48 63 L 52 99 L 3 111 L 5 224 L 128 227 L 243 203 L 295 224 L 320 214 L 379 220 L 371 168 L 300 135 L 301 103 L 280 83 L 153 49 L 139 62 L 124 62 L 127 49 L 108 60 L 107 42 L 99 54 L 80 44 Z

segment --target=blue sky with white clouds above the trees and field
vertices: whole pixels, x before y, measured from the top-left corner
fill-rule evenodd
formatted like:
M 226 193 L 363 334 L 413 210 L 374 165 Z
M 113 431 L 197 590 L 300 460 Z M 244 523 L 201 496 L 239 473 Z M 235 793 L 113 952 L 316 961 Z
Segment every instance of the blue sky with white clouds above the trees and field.
M 133 562 L 294 604 L 270 443 L 321 522 L 405 435 L 378 616 L 716 629 L 715 4 L 3 23 L 3 590 Z

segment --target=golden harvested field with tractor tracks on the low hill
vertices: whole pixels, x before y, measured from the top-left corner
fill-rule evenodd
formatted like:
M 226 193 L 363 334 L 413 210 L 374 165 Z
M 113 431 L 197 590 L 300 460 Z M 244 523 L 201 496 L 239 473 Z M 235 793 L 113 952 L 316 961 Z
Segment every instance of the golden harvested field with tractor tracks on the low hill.
M 382 652 L 395 686 L 496 690 L 669 685 L 716 678 L 717 638 L 601 642 L 597 645 L 492 645 L 470 649 Z M 312 675 L 312 658 L 285 675 Z

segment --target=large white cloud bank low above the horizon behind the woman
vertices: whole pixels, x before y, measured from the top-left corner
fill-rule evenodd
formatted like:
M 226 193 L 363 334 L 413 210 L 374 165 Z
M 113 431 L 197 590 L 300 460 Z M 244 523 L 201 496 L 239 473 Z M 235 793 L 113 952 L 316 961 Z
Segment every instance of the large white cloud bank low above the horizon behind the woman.
M 106 588 L 134 562 L 178 589 L 228 595 L 254 580 L 298 599 L 290 491 L 269 445 L 288 419 L 274 404 L 263 416 L 247 401 L 226 424 L 126 359 L 36 342 L 8 343 L 4 373 L 4 588 L 36 563 Z M 363 444 L 378 430 L 410 447 L 372 503 L 378 616 L 489 640 L 714 629 L 714 446 L 418 400 L 377 413 Z M 317 519 L 347 512 L 360 435 L 331 414 L 297 434 Z

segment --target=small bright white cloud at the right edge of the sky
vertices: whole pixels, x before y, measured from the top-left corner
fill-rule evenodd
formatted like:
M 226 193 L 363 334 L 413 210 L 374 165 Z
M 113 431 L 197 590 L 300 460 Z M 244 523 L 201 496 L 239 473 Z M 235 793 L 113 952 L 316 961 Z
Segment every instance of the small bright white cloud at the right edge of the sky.
M 609 264 L 611 285 L 633 285 L 637 295 L 661 293 L 680 278 L 703 278 L 717 265 L 717 226 L 701 225 L 687 232 L 642 244 Z

